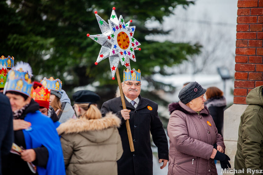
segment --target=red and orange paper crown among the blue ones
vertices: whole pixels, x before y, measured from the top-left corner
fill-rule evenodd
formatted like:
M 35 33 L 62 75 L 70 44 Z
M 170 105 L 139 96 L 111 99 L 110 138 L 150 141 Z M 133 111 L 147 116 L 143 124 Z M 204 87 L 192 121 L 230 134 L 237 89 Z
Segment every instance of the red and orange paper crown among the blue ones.
M 50 89 L 44 86 L 37 86 L 36 89 L 32 89 L 31 97 L 39 104 L 39 106 L 48 108 L 49 106 Z

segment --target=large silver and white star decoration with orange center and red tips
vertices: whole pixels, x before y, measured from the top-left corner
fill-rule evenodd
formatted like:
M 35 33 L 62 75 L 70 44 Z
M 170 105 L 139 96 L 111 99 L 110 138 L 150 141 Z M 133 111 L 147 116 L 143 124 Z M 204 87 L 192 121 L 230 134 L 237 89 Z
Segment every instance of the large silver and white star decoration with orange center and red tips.
M 131 70 L 130 59 L 136 61 L 134 51 L 140 50 L 138 48 L 140 43 L 133 37 L 135 26 L 130 26 L 132 20 L 125 23 L 121 15 L 118 20 L 115 7 L 112 8 L 112 14 L 108 23 L 98 16 L 97 11 L 94 13 L 101 29 L 101 34 L 87 34 L 87 37 L 101 44 L 101 50 L 95 65 L 105 58 L 109 58 L 112 79 L 115 79 L 114 76 L 119 62 Z

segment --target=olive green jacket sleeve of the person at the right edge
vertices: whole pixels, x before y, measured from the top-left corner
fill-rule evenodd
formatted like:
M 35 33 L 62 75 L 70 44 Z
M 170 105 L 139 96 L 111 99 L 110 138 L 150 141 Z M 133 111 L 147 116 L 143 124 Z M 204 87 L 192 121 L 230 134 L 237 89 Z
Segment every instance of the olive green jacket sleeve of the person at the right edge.
M 243 118 L 242 154 L 245 156 L 246 168 L 260 169 L 260 150 L 262 142 L 262 121 L 258 112 L 250 112 Z

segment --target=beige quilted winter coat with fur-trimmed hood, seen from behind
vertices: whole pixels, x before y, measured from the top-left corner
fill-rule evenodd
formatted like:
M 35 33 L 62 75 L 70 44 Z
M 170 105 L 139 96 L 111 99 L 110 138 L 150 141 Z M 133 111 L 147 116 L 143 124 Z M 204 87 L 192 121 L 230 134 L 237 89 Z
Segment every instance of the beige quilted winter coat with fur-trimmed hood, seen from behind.
M 117 127 L 120 119 L 108 113 L 101 119 L 70 119 L 57 131 L 61 135 L 67 175 L 116 175 L 116 161 L 122 156 Z

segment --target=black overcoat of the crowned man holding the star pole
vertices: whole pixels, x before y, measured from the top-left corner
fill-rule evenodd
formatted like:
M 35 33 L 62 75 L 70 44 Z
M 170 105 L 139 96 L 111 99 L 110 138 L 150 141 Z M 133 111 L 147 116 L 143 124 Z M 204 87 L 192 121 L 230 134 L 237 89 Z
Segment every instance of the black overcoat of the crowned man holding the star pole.
M 142 98 L 140 95 L 139 99 L 140 102 L 135 109 L 125 98 L 126 108 L 131 110 L 129 122 L 135 149 L 134 152 L 130 151 L 125 120 L 122 118 L 120 112 L 123 110 L 121 97 L 108 100 L 103 103 L 101 107 L 103 116 L 109 111 L 112 111 L 122 119 L 119 134 L 123 144 L 123 155 L 117 161 L 118 175 L 153 174 L 150 131 L 153 142 L 158 148 L 158 158 L 169 159 L 166 134 L 157 112 L 158 104 L 146 98 Z

